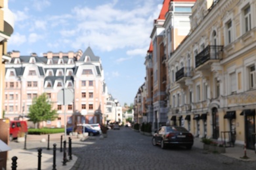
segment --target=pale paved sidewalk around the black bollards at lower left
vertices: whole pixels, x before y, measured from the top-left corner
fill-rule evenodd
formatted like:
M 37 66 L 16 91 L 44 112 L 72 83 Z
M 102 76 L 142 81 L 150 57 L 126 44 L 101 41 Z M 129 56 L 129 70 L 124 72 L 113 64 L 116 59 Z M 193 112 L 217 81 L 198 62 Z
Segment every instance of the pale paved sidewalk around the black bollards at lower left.
M 57 134 L 51 134 L 50 135 L 50 144 L 49 148 L 50 150 L 47 150 L 48 148 L 48 135 L 28 135 L 27 136 L 27 144 L 26 144 L 26 150 L 24 150 L 24 143 L 16 143 L 15 141 L 12 141 L 9 146 L 12 148 L 8 152 L 8 158 L 7 158 L 7 170 L 12 169 L 12 157 L 16 156 L 18 158 L 17 160 L 17 169 L 18 170 L 32 170 L 37 169 L 38 166 L 38 148 L 42 148 L 42 154 L 41 154 L 41 169 L 53 169 L 53 144 L 56 144 L 56 169 L 71 169 L 75 161 L 77 160 L 77 157 L 72 155 L 72 160 L 68 161 L 66 165 L 63 165 L 63 158 L 64 158 L 64 152 L 60 152 L 60 138 L 61 135 L 63 135 L 64 140 L 64 133 L 57 133 Z M 67 141 L 68 137 L 66 136 Z M 77 137 L 71 137 L 72 138 L 72 146 L 74 146 L 75 143 L 79 142 L 81 143 L 80 139 L 77 139 Z M 45 142 L 41 142 L 41 140 L 44 140 Z M 74 144 L 73 144 L 74 143 Z M 68 142 L 67 142 L 67 149 L 66 149 L 66 158 L 69 160 L 68 156 Z M 63 150 L 63 146 L 62 146 Z

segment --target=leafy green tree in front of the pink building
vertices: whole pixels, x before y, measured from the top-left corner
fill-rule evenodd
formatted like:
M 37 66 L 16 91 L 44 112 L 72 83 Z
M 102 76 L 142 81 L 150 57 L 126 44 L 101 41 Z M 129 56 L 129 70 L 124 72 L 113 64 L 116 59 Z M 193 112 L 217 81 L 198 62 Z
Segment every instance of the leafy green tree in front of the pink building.
M 32 121 L 33 124 L 36 124 L 47 120 L 55 120 L 58 118 L 58 113 L 56 110 L 52 110 L 52 105 L 51 102 L 48 101 L 47 94 L 43 93 L 39 97 L 33 99 L 28 116 L 30 121 Z

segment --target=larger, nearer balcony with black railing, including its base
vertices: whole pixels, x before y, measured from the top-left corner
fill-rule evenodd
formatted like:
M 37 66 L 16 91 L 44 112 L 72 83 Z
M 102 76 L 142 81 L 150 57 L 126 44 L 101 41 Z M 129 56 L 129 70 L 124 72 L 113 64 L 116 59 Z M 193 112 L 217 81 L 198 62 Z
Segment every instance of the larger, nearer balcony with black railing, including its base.
M 211 63 L 222 59 L 223 46 L 209 45 L 196 55 L 196 70 L 209 69 Z

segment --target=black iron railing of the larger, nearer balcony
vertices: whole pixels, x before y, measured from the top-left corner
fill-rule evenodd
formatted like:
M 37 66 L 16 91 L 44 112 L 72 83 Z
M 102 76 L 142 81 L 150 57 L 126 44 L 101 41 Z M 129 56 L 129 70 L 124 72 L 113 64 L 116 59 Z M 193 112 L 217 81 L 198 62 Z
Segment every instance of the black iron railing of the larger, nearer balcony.
M 223 46 L 207 46 L 200 54 L 196 55 L 196 68 L 211 59 L 221 59 L 222 52 Z

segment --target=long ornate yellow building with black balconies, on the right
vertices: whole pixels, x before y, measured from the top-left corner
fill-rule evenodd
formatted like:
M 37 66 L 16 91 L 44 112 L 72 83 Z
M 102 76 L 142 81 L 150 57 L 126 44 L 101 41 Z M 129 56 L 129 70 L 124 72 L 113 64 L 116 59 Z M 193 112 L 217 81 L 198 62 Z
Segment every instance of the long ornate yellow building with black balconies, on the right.
M 190 33 L 168 60 L 168 119 L 196 137 L 255 144 L 256 1 L 198 0 Z M 173 119 L 174 120 L 174 119 Z M 173 124 L 174 122 L 171 121 Z

